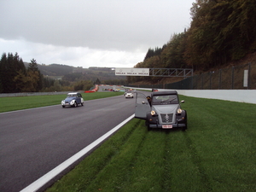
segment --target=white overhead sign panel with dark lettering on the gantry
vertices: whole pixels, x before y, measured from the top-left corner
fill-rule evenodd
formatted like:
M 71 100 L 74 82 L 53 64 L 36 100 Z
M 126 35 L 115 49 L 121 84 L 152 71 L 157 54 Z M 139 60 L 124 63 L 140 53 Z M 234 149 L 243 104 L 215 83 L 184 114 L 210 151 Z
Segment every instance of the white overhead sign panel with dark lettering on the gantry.
M 149 76 L 149 68 L 115 68 L 115 75 Z

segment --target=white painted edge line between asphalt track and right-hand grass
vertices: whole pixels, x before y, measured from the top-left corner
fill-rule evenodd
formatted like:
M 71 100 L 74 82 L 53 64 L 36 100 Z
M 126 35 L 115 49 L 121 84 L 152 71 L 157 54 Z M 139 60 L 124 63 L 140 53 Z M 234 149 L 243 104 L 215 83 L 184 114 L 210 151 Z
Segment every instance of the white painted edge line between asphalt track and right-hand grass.
M 108 131 L 105 135 L 103 135 L 102 137 L 99 137 L 96 141 L 94 141 L 93 143 L 90 143 L 90 145 L 80 150 L 79 153 L 74 154 L 72 157 L 65 160 L 59 166 L 56 166 L 53 170 L 46 173 L 44 176 L 38 178 L 38 180 L 34 181 L 30 185 L 28 185 L 26 188 L 20 190 L 20 192 L 35 192 L 38 189 L 42 188 L 44 184 L 48 183 L 52 178 L 54 178 L 55 176 L 63 172 L 65 169 L 67 169 L 68 166 L 71 166 L 76 160 L 79 160 L 81 157 L 84 156 L 84 154 L 87 154 L 92 148 L 95 148 L 98 144 L 102 143 L 105 139 L 111 136 L 115 131 L 118 131 L 119 128 L 125 125 L 132 118 L 134 118 L 134 114 L 132 114 L 129 118 L 125 119 L 119 125 L 116 125 L 112 130 Z

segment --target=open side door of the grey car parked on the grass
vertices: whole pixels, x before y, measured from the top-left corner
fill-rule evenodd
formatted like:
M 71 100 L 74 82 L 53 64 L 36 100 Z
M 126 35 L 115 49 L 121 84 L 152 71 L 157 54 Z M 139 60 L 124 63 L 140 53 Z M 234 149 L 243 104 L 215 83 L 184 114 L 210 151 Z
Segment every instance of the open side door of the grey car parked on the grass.
M 135 118 L 146 119 L 147 112 L 150 111 L 151 107 L 148 103 L 147 97 L 140 92 L 136 93 L 136 103 L 135 103 Z

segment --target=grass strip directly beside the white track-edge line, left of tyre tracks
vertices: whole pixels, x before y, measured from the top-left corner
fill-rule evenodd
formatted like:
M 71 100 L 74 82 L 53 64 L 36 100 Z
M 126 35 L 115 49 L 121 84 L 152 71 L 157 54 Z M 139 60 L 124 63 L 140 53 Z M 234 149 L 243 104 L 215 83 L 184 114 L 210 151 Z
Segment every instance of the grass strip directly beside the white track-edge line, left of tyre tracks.
M 119 134 L 114 134 L 114 137 L 110 137 L 105 143 L 102 143 L 102 145 L 93 152 L 93 155 L 86 157 L 84 161 L 82 161 L 66 176 L 62 177 L 61 180 L 56 182 L 55 185 L 47 191 L 69 192 L 105 189 L 105 186 L 102 187 L 103 183 L 101 183 L 102 175 L 113 180 L 112 177 L 109 177 L 109 172 L 116 172 L 116 169 L 112 170 L 112 166 L 115 166 L 115 161 L 119 159 L 117 157 L 122 155 L 120 154 L 120 151 L 123 149 L 125 149 L 126 152 L 132 150 L 132 148 L 124 148 L 124 145 L 127 145 L 125 143 L 129 143 L 127 140 L 132 137 L 131 135 L 141 136 L 141 134 L 134 133 L 140 122 L 141 121 L 139 119 L 134 119 L 129 125 L 122 127 L 122 129 L 119 130 Z M 125 160 L 125 162 L 127 161 Z M 119 164 L 121 163 L 124 162 L 121 160 Z M 128 163 L 128 165 L 129 164 L 130 163 Z M 123 168 L 122 170 L 124 170 Z M 112 173 L 112 175 L 114 174 Z M 106 182 L 106 179 L 103 180 L 103 182 Z

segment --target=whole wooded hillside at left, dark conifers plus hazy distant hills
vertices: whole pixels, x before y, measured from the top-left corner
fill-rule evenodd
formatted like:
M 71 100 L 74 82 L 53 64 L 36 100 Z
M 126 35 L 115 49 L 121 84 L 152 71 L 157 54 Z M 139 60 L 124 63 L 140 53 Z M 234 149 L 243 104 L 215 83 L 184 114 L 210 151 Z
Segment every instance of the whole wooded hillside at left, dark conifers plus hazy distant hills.
M 126 84 L 112 68 L 40 65 L 23 62 L 18 53 L 3 53 L 0 60 L 0 93 L 90 90 L 94 84 Z

